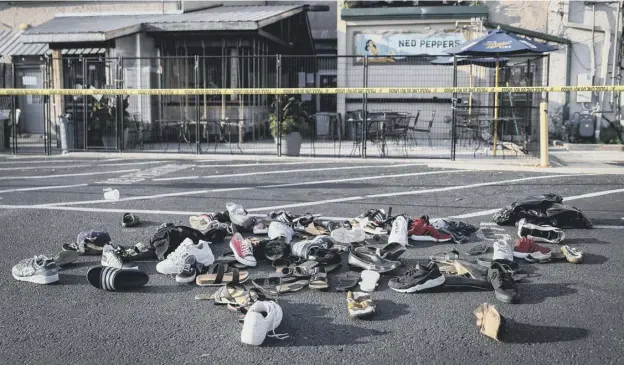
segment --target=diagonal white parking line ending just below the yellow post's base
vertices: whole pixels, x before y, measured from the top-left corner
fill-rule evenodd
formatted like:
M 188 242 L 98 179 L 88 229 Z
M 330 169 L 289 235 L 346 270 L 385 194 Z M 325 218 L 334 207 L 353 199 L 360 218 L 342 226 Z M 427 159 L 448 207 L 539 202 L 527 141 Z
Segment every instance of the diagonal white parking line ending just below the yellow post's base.
M 441 191 L 471 189 L 471 188 L 476 188 L 476 187 L 480 187 L 480 186 L 508 184 L 508 183 L 514 183 L 514 182 L 520 182 L 520 181 L 529 181 L 529 180 L 553 179 L 553 178 L 557 178 L 557 177 L 567 177 L 567 176 L 575 176 L 575 175 L 533 176 L 533 177 L 524 177 L 524 178 L 520 178 L 520 179 L 490 181 L 490 182 L 486 182 L 486 183 L 477 183 L 477 184 L 470 184 L 470 185 L 447 186 L 447 187 L 435 188 L 435 189 L 400 191 L 400 192 L 395 192 L 395 193 L 371 194 L 371 195 L 363 195 L 363 196 L 351 196 L 351 197 L 346 197 L 346 198 L 319 200 L 319 201 L 305 202 L 305 203 L 275 205 L 275 206 L 271 206 L 271 207 L 251 208 L 251 209 L 247 209 L 247 211 L 248 212 L 271 211 L 271 210 L 276 210 L 276 209 L 309 207 L 309 206 L 314 206 L 314 205 L 323 205 L 323 204 L 328 204 L 328 203 L 340 203 L 340 202 L 346 202 L 346 201 L 364 200 L 364 199 L 372 199 L 372 198 L 385 198 L 385 197 L 392 197 L 392 196 L 420 195 L 420 194 L 428 194 L 428 193 L 437 193 L 437 192 L 441 192 Z

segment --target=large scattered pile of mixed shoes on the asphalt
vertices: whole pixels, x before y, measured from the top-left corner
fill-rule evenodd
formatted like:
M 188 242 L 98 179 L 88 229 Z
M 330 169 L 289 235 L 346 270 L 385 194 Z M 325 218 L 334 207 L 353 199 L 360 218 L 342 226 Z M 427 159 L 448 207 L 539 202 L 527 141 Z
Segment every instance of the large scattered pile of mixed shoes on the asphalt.
M 546 225 L 543 219 L 533 222 L 530 217 L 548 217 L 551 223 L 560 222 L 563 216 L 567 222 L 588 222 L 574 218 L 576 213 L 549 213 L 548 209 L 561 203 L 557 197 L 547 194 L 541 200 L 516 204 L 503 214 L 506 219 L 524 217 L 517 221 L 520 238 L 514 246 L 504 240 L 494 242 L 492 247 L 477 245 L 467 252 L 479 256 L 476 261 L 461 257 L 456 250 L 436 254 L 400 274 L 397 271 L 404 266 L 401 256 L 408 247 L 418 242 L 465 243 L 477 228 L 426 215 L 393 216 L 391 208 L 387 213 L 371 209 L 343 222 L 288 211 L 254 216 L 240 204 L 228 202 L 222 212 L 189 217 L 190 226 L 164 223 L 145 241 L 148 243 L 131 247 L 113 245 L 106 232 L 81 232 L 75 243 L 63 245 L 63 251 L 52 259 L 35 256 L 20 261 L 13 268 L 13 276 L 48 284 L 59 281 L 59 267 L 80 256 L 97 255 L 100 262 L 88 270 L 88 282 L 107 291 L 131 290 L 149 281 L 137 262 L 157 259 L 156 271 L 175 278 L 179 284 L 215 287 L 214 293 L 196 298 L 238 312 L 243 323 L 241 341 L 260 345 L 267 336 L 287 337 L 275 333 L 284 313 L 276 301 L 267 298 L 305 288 L 327 291 L 332 273 L 336 273 L 335 290 L 347 293 L 347 313 L 352 318 L 376 312 L 371 293 L 382 275 L 390 276 L 390 289 L 399 293 L 470 287 L 493 290 L 498 300 L 515 303 L 519 300 L 516 282 L 521 268 L 514 260 L 582 262 L 582 253 L 572 247 L 561 246 L 561 254 L 557 255 L 536 243 L 560 244 L 565 234 L 556 224 Z M 539 209 L 546 212 L 533 214 Z M 124 214 L 123 227 L 139 224 L 139 217 Z M 221 246 L 221 242 L 228 245 Z M 213 249 L 225 252 L 216 257 Z M 490 249 L 491 257 L 487 257 Z M 342 270 L 344 261 L 349 270 Z M 252 269 L 263 263 L 271 265 L 272 272 L 252 277 Z

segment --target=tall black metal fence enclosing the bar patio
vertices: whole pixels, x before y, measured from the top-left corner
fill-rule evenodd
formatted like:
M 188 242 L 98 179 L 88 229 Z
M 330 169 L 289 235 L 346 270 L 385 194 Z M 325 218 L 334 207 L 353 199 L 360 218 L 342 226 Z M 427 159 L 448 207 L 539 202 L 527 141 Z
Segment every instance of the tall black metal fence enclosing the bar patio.
M 6 150 L 447 159 L 491 158 L 498 152 L 504 158 L 539 158 L 542 94 L 313 93 L 277 97 L 253 93 L 259 88 L 495 86 L 492 65 L 440 66 L 433 65 L 433 59 L 85 57 L 15 65 L 18 88 L 52 88 L 54 79 L 62 75 L 61 86 L 66 89 L 248 88 L 250 92 L 10 97 L 4 100 L 5 104 L 9 101 L 8 109 L 21 109 L 22 114 L 19 120 L 5 120 L 11 136 Z M 54 69 L 58 65 L 62 72 Z M 498 85 L 547 85 L 547 66 L 547 57 L 518 59 L 513 66 L 500 68 Z M 33 112 L 35 109 L 40 113 Z M 65 145 L 60 122 L 65 123 Z

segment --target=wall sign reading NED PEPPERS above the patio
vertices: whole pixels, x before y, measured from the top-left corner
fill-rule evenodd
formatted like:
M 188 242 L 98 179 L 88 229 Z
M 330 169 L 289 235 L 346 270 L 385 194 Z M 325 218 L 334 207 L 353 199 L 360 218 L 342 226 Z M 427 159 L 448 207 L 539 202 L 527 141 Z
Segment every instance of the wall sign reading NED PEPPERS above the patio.
M 439 56 L 443 51 L 464 43 L 461 32 L 357 32 L 353 47 L 357 56 L 368 55 L 369 63 L 396 63 L 404 56 Z M 388 56 L 388 57 L 374 57 Z M 403 57 L 402 57 L 403 56 Z M 358 57 L 358 62 L 361 58 Z

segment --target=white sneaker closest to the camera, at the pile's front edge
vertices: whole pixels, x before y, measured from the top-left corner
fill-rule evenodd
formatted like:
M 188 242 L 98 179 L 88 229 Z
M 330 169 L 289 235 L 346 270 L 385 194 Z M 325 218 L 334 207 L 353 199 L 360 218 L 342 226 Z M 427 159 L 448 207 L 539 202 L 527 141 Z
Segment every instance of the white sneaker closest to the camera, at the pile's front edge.
M 260 346 L 267 337 L 279 340 L 288 338 L 286 334 L 277 334 L 275 329 L 282 323 L 284 312 L 274 301 L 257 301 L 248 310 L 241 331 L 241 342 Z M 273 332 L 269 334 L 269 332 Z

